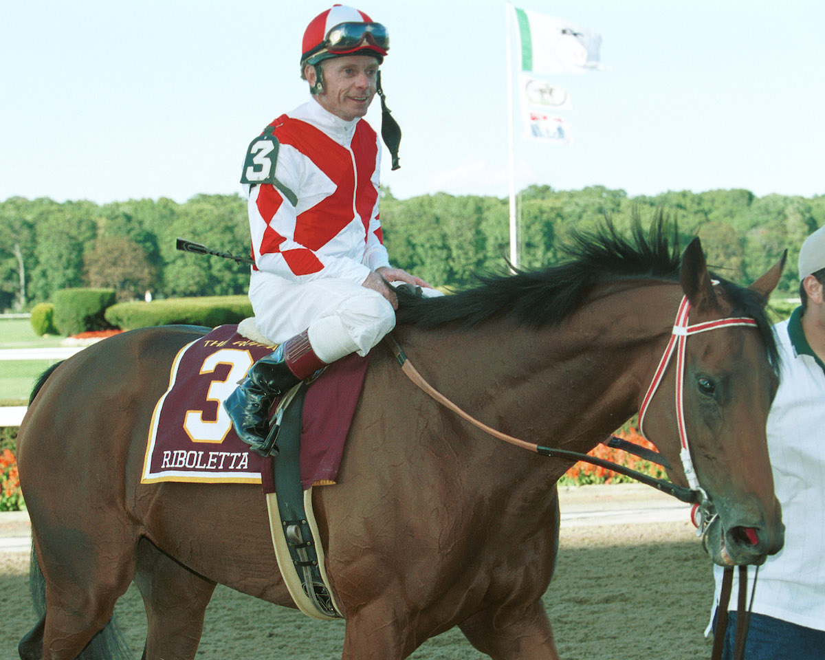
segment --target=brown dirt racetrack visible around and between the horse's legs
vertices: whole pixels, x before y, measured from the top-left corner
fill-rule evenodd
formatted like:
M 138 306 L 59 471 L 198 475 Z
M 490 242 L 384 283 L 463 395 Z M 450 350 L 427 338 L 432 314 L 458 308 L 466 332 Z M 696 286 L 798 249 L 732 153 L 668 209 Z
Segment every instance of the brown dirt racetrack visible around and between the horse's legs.
M 544 596 L 564 660 L 709 658 L 702 636 L 713 593 L 710 563 L 689 522 L 631 526 L 562 525 L 556 576 Z M 27 587 L 29 557 L 0 554 L 0 660 L 18 660 L 17 642 L 34 624 Z M 145 639 L 134 586 L 117 614 L 132 655 Z M 342 622 L 310 620 L 218 587 L 206 610 L 197 658 L 330 660 L 341 658 Z M 487 658 L 458 629 L 430 639 L 416 660 Z

